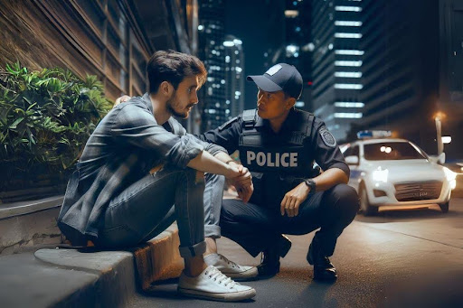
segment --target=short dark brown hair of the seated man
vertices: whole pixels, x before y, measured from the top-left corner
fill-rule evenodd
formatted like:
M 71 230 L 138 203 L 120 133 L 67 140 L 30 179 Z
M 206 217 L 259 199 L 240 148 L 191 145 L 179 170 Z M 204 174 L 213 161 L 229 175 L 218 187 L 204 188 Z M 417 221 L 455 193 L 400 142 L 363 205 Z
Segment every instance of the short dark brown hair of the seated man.
M 207 70 L 198 58 L 177 51 L 156 51 L 146 65 L 149 81 L 149 93 L 156 93 L 163 81 L 170 82 L 174 89 L 186 77 L 198 76 L 202 87 Z

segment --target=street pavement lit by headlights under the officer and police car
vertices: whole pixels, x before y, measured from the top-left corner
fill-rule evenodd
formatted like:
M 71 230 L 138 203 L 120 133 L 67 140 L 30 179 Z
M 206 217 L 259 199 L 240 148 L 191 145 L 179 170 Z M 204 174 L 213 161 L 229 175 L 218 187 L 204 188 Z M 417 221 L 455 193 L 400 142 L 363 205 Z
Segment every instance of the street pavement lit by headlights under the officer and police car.
M 293 246 L 279 275 L 247 283 L 257 296 L 245 303 L 217 303 L 182 297 L 175 280 L 153 285 L 129 307 L 463 307 L 463 199 L 450 201 L 449 213 L 438 206 L 357 215 L 338 240 L 332 262 L 334 285 L 312 280 L 306 261 L 313 233 L 289 236 Z M 220 252 L 242 265 L 257 266 L 227 238 Z

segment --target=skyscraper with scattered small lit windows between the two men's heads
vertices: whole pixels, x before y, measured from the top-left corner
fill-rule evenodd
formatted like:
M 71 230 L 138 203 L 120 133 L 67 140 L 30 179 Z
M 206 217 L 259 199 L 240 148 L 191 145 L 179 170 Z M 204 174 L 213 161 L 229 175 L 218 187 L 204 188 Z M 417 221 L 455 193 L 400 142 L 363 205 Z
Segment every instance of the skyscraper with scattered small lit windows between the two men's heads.
M 223 0 L 199 1 L 198 55 L 208 76 L 200 92 L 201 129 L 221 126 L 244 107 L 244 54 L 240 39 L 226 36 Z

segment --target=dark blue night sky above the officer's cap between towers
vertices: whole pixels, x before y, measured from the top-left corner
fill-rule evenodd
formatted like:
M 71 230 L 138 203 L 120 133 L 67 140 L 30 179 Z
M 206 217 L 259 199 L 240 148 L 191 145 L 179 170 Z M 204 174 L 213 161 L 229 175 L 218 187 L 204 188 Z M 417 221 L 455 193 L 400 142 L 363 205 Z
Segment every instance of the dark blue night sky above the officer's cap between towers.
M 275 26 L 274 16 L 284 14 L 284 1 L 225 0 L 225 4 L 225 31 L 242 41 L 245 76 L 263 74 L 269 69 L 264 67 L 264 52 L 279 42 L 280 35 L 273 33 L 272 27 Z M 257 88 L 248 81 L 245 87 L 244 107 L 254 108 Z

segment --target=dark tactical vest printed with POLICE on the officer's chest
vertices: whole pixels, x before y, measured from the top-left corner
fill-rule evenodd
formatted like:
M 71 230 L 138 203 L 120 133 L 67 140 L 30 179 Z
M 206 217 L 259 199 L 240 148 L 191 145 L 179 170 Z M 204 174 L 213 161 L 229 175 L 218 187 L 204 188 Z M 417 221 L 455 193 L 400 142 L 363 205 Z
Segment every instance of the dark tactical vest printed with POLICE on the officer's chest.
M 239 143 L 241 163 L 252 173 L 286 173 L 310 177 L 310 162 L 304 140 L 310 135 L 314 116 L 301 112 L 299 126 L 277 136 L 261 134 L 256 128 L 256 109 L 245 110 Z

